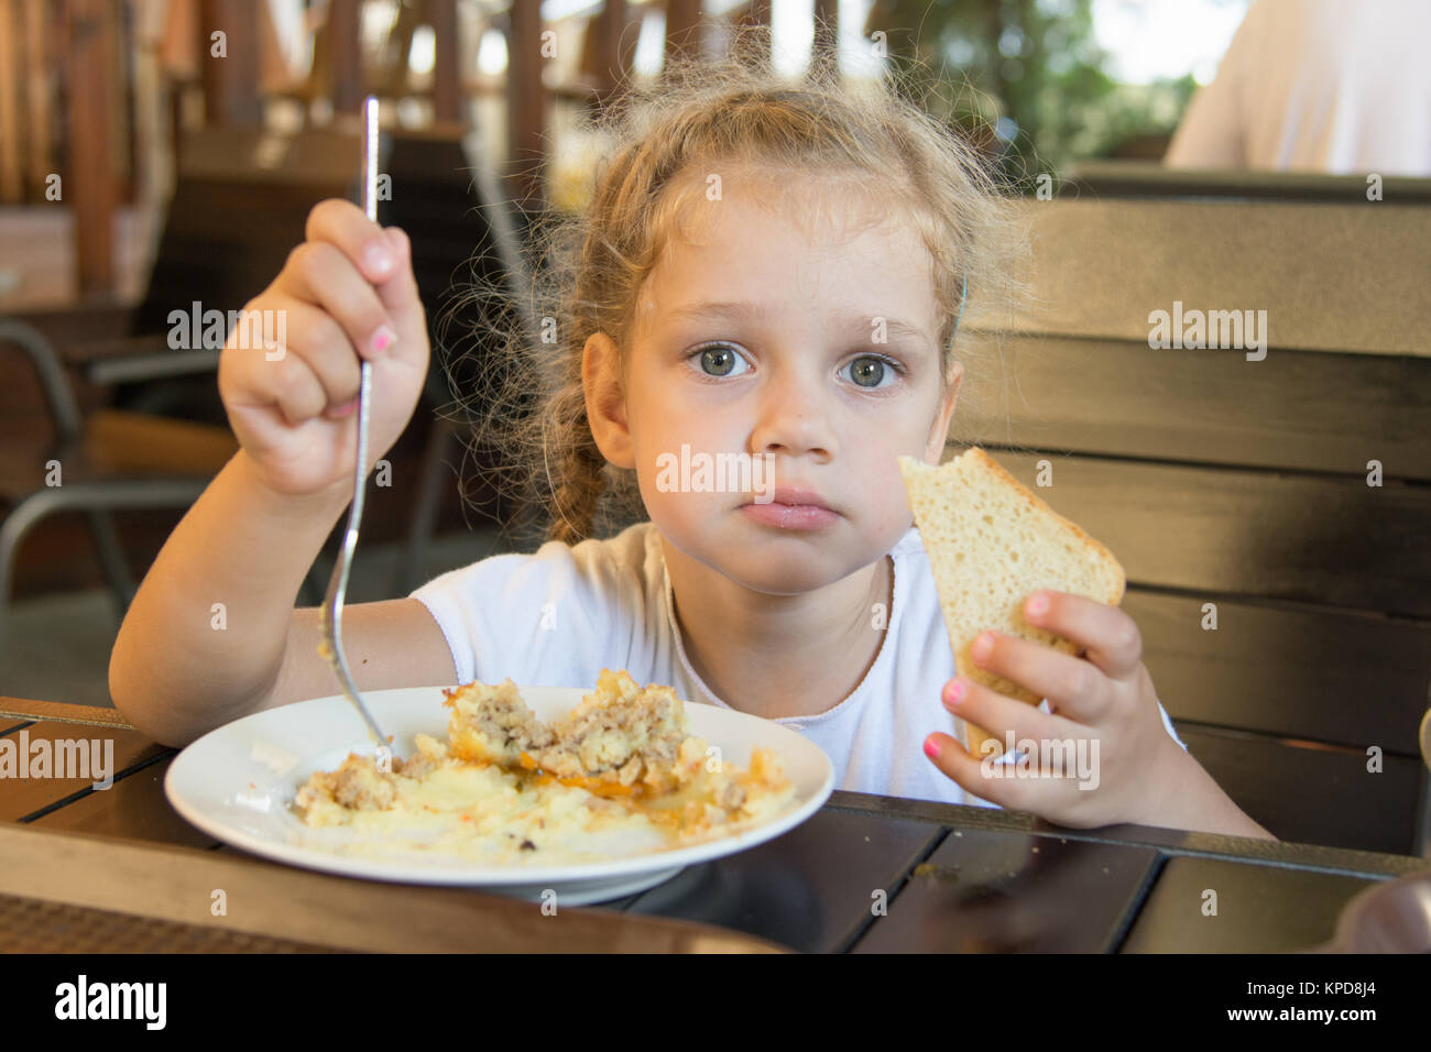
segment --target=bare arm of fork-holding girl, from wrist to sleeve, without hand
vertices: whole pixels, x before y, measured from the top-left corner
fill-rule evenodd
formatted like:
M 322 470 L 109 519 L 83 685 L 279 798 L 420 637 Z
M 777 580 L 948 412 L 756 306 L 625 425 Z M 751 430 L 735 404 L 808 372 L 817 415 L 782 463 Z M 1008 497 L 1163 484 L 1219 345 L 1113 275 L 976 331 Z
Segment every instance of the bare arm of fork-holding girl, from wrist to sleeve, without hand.
M 269 490 L 245 451 L 225 465 L 150 567 L 120 625 L 109 690 L 155 740 L 183 746 L 259 708 L 339 693 L 298 590 L 352 497 Z M 343 607 L 359 690 L 455 683 L 442 631 L 416 600 Z

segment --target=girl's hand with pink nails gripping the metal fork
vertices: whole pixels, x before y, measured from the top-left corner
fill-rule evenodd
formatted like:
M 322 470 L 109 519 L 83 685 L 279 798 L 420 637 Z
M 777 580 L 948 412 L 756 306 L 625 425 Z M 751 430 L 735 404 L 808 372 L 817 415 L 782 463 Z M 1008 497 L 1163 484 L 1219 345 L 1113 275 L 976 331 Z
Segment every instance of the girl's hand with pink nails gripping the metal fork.
M 308 213 L 305 235 L 246 305 L 259 323 L 235 326 L 219 355 L 233 434 L 259 477 L 292 495 L 352 487 L 363 361 L 372 362 L 368 469 L 408 425 L 428 372 L 408 236 L 338 199 Z M 259 331 L 272 342 L 253 339 Z

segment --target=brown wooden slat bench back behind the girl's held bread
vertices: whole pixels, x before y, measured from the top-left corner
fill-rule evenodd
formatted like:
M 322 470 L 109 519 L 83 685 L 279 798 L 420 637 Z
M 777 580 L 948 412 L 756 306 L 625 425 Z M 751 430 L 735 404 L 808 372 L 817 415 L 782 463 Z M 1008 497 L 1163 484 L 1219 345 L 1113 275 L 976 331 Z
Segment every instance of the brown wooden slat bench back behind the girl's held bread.
M 1159 698 L 1254 819 L 1427 854 L 1431 208 L 1025 208 L 1040 306 L 997 342 L 975 319 L 947 455 L 1112 548 Z M 1173 301 L 1265 309 L 1266 356 L 1151 348 Z

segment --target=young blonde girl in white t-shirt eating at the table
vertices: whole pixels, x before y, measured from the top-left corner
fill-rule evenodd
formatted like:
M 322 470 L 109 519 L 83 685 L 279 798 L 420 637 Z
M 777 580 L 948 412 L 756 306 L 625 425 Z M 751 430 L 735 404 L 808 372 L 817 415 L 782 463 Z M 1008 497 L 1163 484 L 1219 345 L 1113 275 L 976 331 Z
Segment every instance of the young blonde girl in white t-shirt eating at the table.
M 889 87 L 680 73 L 628 96 L 544 342 L 512 338 L 497 371 L 491 405 L 544 396 L 505 448 L 551 540 L 348 607 L 358 687 L 590 688 L 625 668 L 800 730 L 840 789 L 1269 836 L 1181 747 L 1116 607 L 1029 597 L 1026 618 L 1082 657 L 999 633 L 976 647 L 1039 708 L 954 674 L 897 457 L 940 461 L 969 358 L 957 322 L 1007 278 L 1010 228 L 977 160 Z M 372 461 L 428 369 L 408 239 L 346 202 L 313 209 L 248 309 L 286 312 L 285 354 L 225 349 L 242 449 L 159 554 L 110 663 L 116 706 L 176 746 L 336 691 L 319 610 L 293 603 L 352 495 L 359 364 Z M 698 471 L 741 454 L 770 467 L 774 502 Z M 612 507 L 645 521 L 598 540 Z M 999 740 L 1095 739 L 1096 787 L 990 777 L 963 719 Z

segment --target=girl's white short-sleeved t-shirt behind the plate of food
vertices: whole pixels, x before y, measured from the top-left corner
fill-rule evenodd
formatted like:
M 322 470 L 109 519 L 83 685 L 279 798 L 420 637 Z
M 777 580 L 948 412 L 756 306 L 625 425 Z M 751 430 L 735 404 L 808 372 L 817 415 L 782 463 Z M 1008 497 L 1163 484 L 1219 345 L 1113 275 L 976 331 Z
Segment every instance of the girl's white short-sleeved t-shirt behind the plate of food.
M 919 530 L 894 545 L 887 635 L 864 678 L 834 708 L 774 721 L 814 741 L 834 784 L 857 793 L 993 807 L 964 793 L 924 756 L 932 731 L 967 746 L 963 720 L 942 704 L 957 673 Z M 675 624 L 661 535 L 638 522 L 610 540 L 547 541 L 452 570 L 412 593 L 452 650 L 459 683 L 479 680 L 590 690 L 602 668 L 625 668 L 685 701 L 731 708 L 701 681 Z M 1047 700 L 1040 706 L 1047 711 Z M 1179 746 L 1168 711 L 1158 706 Z M 1183 746 L 1186 749 L 1186 746 Z

